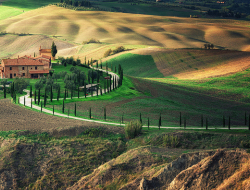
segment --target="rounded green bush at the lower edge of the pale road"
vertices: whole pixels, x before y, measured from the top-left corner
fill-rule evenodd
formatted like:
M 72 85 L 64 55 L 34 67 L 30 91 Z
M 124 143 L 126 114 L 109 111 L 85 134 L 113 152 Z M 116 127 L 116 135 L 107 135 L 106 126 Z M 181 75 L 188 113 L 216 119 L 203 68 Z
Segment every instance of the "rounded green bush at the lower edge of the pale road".
M 142 130 L 142 123 L 139 120 L 130 121 L 125 125 L 125 135 L 128 139 L 138 136 Z

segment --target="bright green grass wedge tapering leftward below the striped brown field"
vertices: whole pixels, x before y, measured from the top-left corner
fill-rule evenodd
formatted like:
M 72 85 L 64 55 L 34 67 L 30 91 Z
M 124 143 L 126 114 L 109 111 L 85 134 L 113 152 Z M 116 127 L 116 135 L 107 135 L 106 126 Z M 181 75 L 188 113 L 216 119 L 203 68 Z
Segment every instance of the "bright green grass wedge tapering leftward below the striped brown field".
M 179 86 L 180 88 L 187 87 L 199 93 L 216 96 L 232 101 L 249 103 L 249 71 L 249 69 L 246 69 L 244 71 L 229 76 L 198 80 L 179 80 L 174 78 L 151 78 L 148 80 L 154 80 L 166 84 L 173 84 Z

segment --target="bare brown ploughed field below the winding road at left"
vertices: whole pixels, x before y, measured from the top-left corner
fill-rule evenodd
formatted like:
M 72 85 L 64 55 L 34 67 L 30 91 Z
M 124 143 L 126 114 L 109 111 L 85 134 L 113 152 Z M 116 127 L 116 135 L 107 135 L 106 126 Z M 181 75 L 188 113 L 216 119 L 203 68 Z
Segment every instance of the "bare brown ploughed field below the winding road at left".
M 21 106 L 15 105 L 10 100 L 0 100 L 0 130 L 29 130 L 34 132 L 43 132 L 50 130 L 60 130 L 68 127 L 105 127 L 108 130 L 122 132 L 120 127 L 113 127 L 103 124 L 79 121 L 57 116 L 51 116 Z

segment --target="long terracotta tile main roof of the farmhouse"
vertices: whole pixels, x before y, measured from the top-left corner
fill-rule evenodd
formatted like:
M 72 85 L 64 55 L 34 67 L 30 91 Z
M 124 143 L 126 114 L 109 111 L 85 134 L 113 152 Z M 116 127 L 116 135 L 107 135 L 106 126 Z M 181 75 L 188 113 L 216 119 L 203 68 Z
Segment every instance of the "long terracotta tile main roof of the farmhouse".
M 40 61 L 32 59 L 2 59 L 2 62 L 5 66 L 44 65 Z

